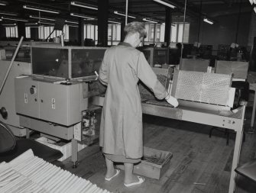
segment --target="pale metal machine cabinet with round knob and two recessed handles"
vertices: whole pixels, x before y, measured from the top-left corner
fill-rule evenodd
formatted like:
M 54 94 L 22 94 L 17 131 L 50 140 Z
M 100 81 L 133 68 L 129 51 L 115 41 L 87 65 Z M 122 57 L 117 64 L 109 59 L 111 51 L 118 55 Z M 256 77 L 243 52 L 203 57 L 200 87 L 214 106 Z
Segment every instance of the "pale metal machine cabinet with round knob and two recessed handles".
M 81 121 L 81 111 L 88 108 L 86 83 L 61 85 L 33 77 L 15 79 L 15 104 L 18 114 L 70 126 Z

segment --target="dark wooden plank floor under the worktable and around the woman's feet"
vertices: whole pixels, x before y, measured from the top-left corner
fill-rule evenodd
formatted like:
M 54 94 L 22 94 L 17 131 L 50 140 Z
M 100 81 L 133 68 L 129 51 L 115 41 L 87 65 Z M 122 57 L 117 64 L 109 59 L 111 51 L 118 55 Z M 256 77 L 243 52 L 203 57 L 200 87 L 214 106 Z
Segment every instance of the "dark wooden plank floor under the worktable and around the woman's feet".
M 251 107 L 246 109 L 245 130 L 250 127 L 251 111 Z M 97 142 L 79 152 L 76 169 L 72 168 L 70 158 L 60 166 L 112 192 L 228 192 L 235 133 L 231 133 L 229 145 L 226 146 L 225 133 L 219 130 L 214 130 L 209 138 L 210 126 L 150 115 L 144 115 L 143 120 L 144 146 L 173 153 L 167 172 L 159 180 L 145 178 L 142 185 L 126 188 L 122 171 L 118 178 L 106 182 L 105 159 Z M 256 133 L 245 132 L 245 136 L 240 164 L 256 157 Z M 238 176 L 235 193 L 252 192 L 256 192 L 256 183 Z

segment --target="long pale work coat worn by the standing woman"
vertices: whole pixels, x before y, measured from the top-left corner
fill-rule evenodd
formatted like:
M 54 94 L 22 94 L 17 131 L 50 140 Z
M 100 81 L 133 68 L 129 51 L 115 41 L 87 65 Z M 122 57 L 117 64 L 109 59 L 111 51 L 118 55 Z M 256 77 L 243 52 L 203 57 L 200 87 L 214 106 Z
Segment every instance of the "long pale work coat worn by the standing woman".
M 158 99 L 167 96 L 144 54 L 129 43 L 105 51 L 99 80 L 107 85 L 102 109 L 99 145 L 103 153 L 138 159 L 143 154 L 141 79 Z

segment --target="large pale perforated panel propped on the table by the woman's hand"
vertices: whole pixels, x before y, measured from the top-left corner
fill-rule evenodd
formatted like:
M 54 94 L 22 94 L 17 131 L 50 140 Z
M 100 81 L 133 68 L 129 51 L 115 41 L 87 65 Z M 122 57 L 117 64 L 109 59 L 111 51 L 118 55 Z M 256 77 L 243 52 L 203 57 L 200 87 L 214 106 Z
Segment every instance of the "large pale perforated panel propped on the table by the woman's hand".
M 179 99 L 227 105 L 231 75 L 176 70 L 171 94 Z

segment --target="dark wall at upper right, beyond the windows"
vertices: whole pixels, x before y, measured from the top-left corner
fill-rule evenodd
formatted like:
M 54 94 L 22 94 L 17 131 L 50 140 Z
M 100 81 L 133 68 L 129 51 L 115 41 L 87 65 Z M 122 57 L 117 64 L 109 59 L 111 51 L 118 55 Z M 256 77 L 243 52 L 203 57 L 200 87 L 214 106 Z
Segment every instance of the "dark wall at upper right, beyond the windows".
M 213 50 L 218 50 L 219 44 L 235 43 L 238 14 L 222 15 L 214 18 L 215 24 L 207 24 L 201 20 L 199 42 L 213 45 Z M 248 46 L 251 13 L 242 13 L 240 16 L 237 43 Z M 190 24 L 190 43 L 194 43 L 198 36 L 198 20 Z M 256 32 L 256 26 L 255 26 Z

